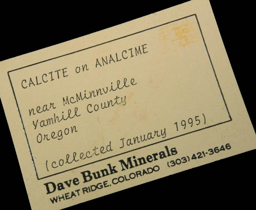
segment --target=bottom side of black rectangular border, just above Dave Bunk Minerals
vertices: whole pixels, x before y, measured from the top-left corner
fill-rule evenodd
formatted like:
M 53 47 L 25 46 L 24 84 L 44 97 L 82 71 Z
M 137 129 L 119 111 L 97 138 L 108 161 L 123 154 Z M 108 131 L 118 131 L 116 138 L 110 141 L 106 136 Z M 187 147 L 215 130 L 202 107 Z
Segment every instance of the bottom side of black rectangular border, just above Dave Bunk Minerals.
M 136 149 L 133 149 L 133 150 L 130 150 L 130 151 L 122 152 L 122 153 L 119 153 L 119 154 L 117 154 L 117 155 L 113 155 L 113 156 L 110 156 L 110 157 L 105 157 L 105 158 L 103 158 L 103 159 L 96 160 L 96 161 L 91 162 L 91 163 L 86 163 L 86 164 L 84 164 L 84 165 L 77 166 L 77 167 L 74 167 L 74 168 L 72 168 L 72 169 L 67 169 L 67 170 L 65 170 L 65 171 L 61 171 L 61 172 L 58 172 L 58 173 L 55 173 L 55 174 L 52 174 L 52 175 L 44 176 L 44 177 L 42 177 L 42 178 L 39 178 L 38 180 L 41 180 L 41 179 L 44 179 L 44 178 L 48 178 L 48 177 L 51 177 L 51 176 L 54 176 L 54 175 L 62 174 L 62 173 L 64 173 L 64 172 L 67 172 L 67 171 L 70 171 L 70 170 L 78 169 L 78 168 L 83 167 L 83 166 L 86 166 L 86 165 L 90 165 L 90 164 L 97 163 L 97 162 L 100 162 L 100 161 L 103 161 L 103 160 L 107 160 L 107 159 L 112 158 L 112 157 L 117 157 L 117 156 L 119 156 L 119 155 L 123 155 L 123 154 L 126 154 L 126 153 L 128 153 L 128 152 L 133 152 L 133 151 L 136 151 L 136 150 L 139 150 L 139 149 L 148 147 L 148 146 L 152 146 L 152 145 L 155 145 L 155 144 L 159 144 L 159 143 L 162 143 L 162 142 L 164 142 L 164 141 L 172 140 L 172 139 L 175 139 L 175 138 L 178 138 L 178 137 L 187 135 L 187 134 L 192 134 L 192 133 L 195 133 L 195 132 L 197 132 L 197 131 L 204 130 L 204 129 L 207 129 L 207 128 L 211 128 L 211 127 L 214 127 L 214 126 L 217 126 L 217 125 L 226 123 L 226 122 L 230 122 L 230 121 L 232 121 L 232 120 L 228 120 L 228 121 L 225 121 L 225 122 L 220 122 L 220 123 L 217 123 L 217 124 L 215 124 L 215 125 L 211 125 L 211 126 L 208 126 L 208 127 L 205 127 L 205 128 L 200 128 L 200 129 L 191 131 L 191 132 L 186 133 L 186 134 L 180 134 L 180 135 L 178 135 L 178 136 L 175 136 L 175 137 L 172 137 L 172 138 L 169 138 L 169 139 L 157 141 L 157 142 L 155 142 L 155 143 L 152 143 L 152 144 L 149 144 L 149 145 L 145 145 L 145 146 L 141 146 L 141 147 L 139 147 L 139 148 L 136 148 Z

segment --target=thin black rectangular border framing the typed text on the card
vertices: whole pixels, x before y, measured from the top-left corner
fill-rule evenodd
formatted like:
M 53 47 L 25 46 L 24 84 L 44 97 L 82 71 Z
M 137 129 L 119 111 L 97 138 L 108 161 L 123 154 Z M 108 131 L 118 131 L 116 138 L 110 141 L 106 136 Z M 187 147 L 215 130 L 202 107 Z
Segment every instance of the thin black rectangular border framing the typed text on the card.
M 198 21 L 198 19 L 197 19 L 197 16 L 196 16 L 196 14 L 192 14 L 192 15 L 186 16 L 186 17 L 184 17 L 184 18 L 179 18 L 179 19 L 177 19 L 177 20 L 173 20 L 173 21 L 170 21 L 170 22 L 168 22 L 168 23 L 163 23 L 163 24 L 161 24 L 161 25 L 158 25 L 158 26 L 155 26 L 155 27 L 151 27 L 151 28 L 149 28 L 149 29 L 144 29 L 144 30 L 142 30 L 142 31 L 138 31 L 138 32 L 136 32 L 136 33 L 133 33 L 133 34 L 130 34 L 130 35 L 126 35 L 126 36 L 123 36 L 123 37 L 120 37 L 120 38 L 117 38 L 117 39 L 114 39 L 114 40 L 111 40 L 111 41 L 106 41 L 106 42 L 103 42 L 103 43 L 101 43 L 101 44 L 94 45 L 94 46 L 91 46 L 91 47 L 87 47 L 87 48 L 84 48 L 84 49 L 81 49 L 81 50 L 78 50 L 78 51 L 75 51 L 75 52 L 70 52 L 70 53 L 65 54 L 65 55 L 61 55 L 61 56 L 58 56 L 58 57 L 55 57 L 55 58 L 50 58 L 50 59 L 47 59 L 47 60 L 44 60 L 44 61 L 41 61 L 41 62 L 38 62 L 38 63 L 35 63 L 35 64 L 30 64 L 30 65 L 27 65 L 27 66 L 24 66 L 24 67 L 15 69 L 15 70 L 10 70 L 10 71 L 8 71 L 8 77 L 9 77 L 11 86 L 12 86 L 12 81 L 11 81 L 11 77 L 10 77 L 9 73 L 12 72 L 12 71 L 24 69 L 24 68 L 26 68 L 26 67 L 30 67 L 30 66 L 33 66 L 33 65 L 36 65 L 36 64 L 40 64 L 40 63 L 43 63 L 43 62 L 47 62 L 47 61 L 49 61 L 49 60 L 53 60 L 53 59 L 56 59 L 56 58 L 64 57 L 64 56 L 67 56 L 67 55 L 71 55 L 71 54 L 73 54 L 73 53 L 81 52 L 81 51 L 84 51 L 84 50 L 87 50 L 87 49 L 90 49 L 90 48 L 93 48 L 93 47 L 98 47 L 98 46 L 101 46 L 101 45 L 103 45 L 103 44 L 107 44 L 107 43 L 109 43 L 109 42 L 113 42 L 113 41 L 116 41 L 116 40 L 120 40 L 120 39 L 129 37 L 129 36 L 131 36 L 131 35 L 136 35 L 136 34 L 139 34 L 139 33 L 144 32 L 144 31 L 147 31 L 147 30 L 150 30 L 150 29 L 155 29 L 155 28 L 161 27 L 161 26 L 163 26 L 163 25 L 166 25 L 166 24 L 169 24 L 169 23 L 173 23 L 173 22 L 176 22 L 176 21 L 185 19 L 185 18 L 192 17 L 192 16 L 195 16 L 195 17 L 196 17 L 196 21 L 197 21 L 197 23 L 198 23 L 198 27 L 199 27 L 200 32 L 201 32 L 201 35 L 202 35 L 202 30 L 201 30 L 199 21 Z M 207 48 L 207 46 L 206 46 L 206 43 L 205 43 L 205 40 L 204 40 L 203 35 L 202 35 L 202 39 L 203 39 L 203 42 L 204 42 L 204 46 L 206 47 L 206 51 L 207 51 L 207 54 L 208 54 L 208 58 L 209 58 L 209 60 L 210 60 L 211 66 L 212 66 L 213 71 L 214 71 L 214 76 L 215 76 L 216 81 L 217 81 L 217 83 L 218 83 L 218 86 L 219 86 L 219 88 L 220 88 L 220 83 L 219 83 L 219 80 L 218 80 L 218 78 L 217 78 L 217 76 L 216 76 L 216 73 L 215 73 L 215 70 L 214 70 L 214 67 L 213 67 L 213 64 L 212 64 L 210 55 L 209 55 L 209 53 L 208 53 L 208 48 Z M 58 175 L 58 174 L 64 173 L 64 172 L 69 171 L 69 170 L 77 169 L 77 168 L 83 167 L 83 166 L 85 166 L 85 165 L 89 165 L 89 164 L 92 164 L 92 163 L 97 163 L 97 162 L 99 162 L 99 161 L 102 161 L 102 160 L 106 160 L 106 159 L 108 159 L 108 158 L 111 158 L 111 157 L 107 157 L 107 158 L 104 158 L 104 159 L 101 159 L 101 160 L 97 160 L 97 161 L 92 162 L 92 163 L 87 163 L 87 164 L 82 165 L 82 166 L 77 166 L 76 168 L 73 168 L 73 169 L 67 169 L 67 170 L 65 170 L 65 171 L 63 171 L 63 172 L 59 172 L 59 173 L 56 173 L 56 174 L 53 174 L 53 175 L 48 175 L 48 176 L 39 178 L 39 177 L 38 177 L 38 174 L 37 174 L 37 170 L 36 170 L 36 165 L 35 165 L 35 162 L 34 162 L 34 158 L 33 158 L 33 156 L 32 156 L 32 152 L 31 152 L 31 149 L 30 149 L 29 140 L 28 140 L 28 137 L 27 137 L 27 134 L 26 134 L 26 131 L 25 131 L 23 119 L 22 119 L 22 116 L 21 116 L 21 113 L 20 113 L 20 110 L 19 110 L 18 101 L 17 101 L 16 95 L 15 95 L 15 93 L 14 93 L 13 86 L 12 86 L 12 92 L 13 92 L 13 95 L 14 95 L 14 98 L 15 98 L 15 101 L 16 101 L 16 104 L 17 104 L 17 107 L 18 107 L 19 116 L 20 116 L 20 118 L 21 118 L 21 122 L 22 122 L 22 125 L 23 125 L 24 133 L 25 133 L 25 137 L 26 137 L 26 140 L 27 140 L 27 143 L 28 143 L 28 146 L 29 146 L 30 155 L 31 155 L 31 157 L 32 157 L 32 162 L 33 162 L 33 165 L 34 165 L 34 168 L 35 168 L 35 171 L 36 171 L 37 180 L 41 180 L 41 179 L 44 179 L 44 178 L 47 178 L 47 177 L 50 177 L 50 176 L 53 176 L 53 175 Z M 222 98 L 223 98 L 223 101 L 224 101 L 224 103 L 225 103 L 225 105 L 226 105 L 226 100 L 225 100 L 225 98 L 224 98 L 224 95 L 223 95 L 223 93 L 222 93 L 221 88 L 220 88 L 220 93 L 221 93 Z M 230 120 L 229 120 L 229 121 L 226 121 L 226 122 L 230 122 L 230 121 L 232 121 L 232 117 L 230 116 L 230 113 L 229 113 L 229 111 L 228 111 L 227 105 L 226 105 L 226 110 L 227 110 L 227 113 L 228 113 L 229 118 L 230 118 Z M 225 122 L 220 122 L 220 123 L 218 123 L 218 124 L 215 124 L 215 125 L 212 125 L 212 126 L 208 126 L 208 127 L 206 127 L 206 128 L 210 128 L 210 127 L 213 127 L 213 126 L 216 126 L 216 125 L 220 125 L 220 124 L 223 124 L 223 123 L 225 123 Z M 205 129 L 205 128 L 201 128 L 201 129 L 192 131 L 192 132 L 187 133 L 187 134 L 191 134 L 191 133 L 193 133 L 193 132 L 196 132 L 196 131 L 199 131 L 199 130 L 202 130 L 202 129 Z M 186 134 L 182 134 L 182 135 L 179 135 L 179 136 L 176 136 L 176 137 L 167 139 L 167 140 L 171 140 L 171 139 L 174 139 L 174 138 L 183 136 L 183 135 L 186 135 Z M 163 141 L 166 141 L 166 140 L 163 140 Z M 161 142 L 163 142 L 163 141 L 155 142 L 155 143 L 150 144 L 150 145 L 147 145 L 147 146 L 155 145 L 155 144 L 161 143 Z M 143 147 L 140 147 L 140 148 L 137 148 L 137 149 L 141 149 L 141 148 L 144 148 L 144 147 L 146 147 L 146 146 L 143 146 Z M 137 149 L 134 149 L 134 150 L 131 150 L 131 151 L 128 151 L 128 152 L 132 152 L 132 151 L 135 151 L 135 150 L 137 150 Z M 116 156 L 119 156 L 119 155 L 122 155 L 122 154 L 125 154 L 125 153 L 127 153 L 127 152 L 123 152 L 123 153 L 121 153 L 121 154 L 117 154 L 117 155 L 112 156 L 112 157 L 116 157 Z

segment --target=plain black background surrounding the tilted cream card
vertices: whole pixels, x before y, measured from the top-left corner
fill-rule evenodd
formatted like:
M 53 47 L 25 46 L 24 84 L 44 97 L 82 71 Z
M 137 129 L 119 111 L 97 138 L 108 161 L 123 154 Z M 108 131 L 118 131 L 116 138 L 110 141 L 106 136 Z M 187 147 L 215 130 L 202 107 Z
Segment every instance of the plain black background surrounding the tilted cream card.
M 17 11 L 10 9 L 11 7 L 6 8 L 10 12 L 1 17 L 0 60 L 69 41 L 183 2 L 185 1 L 169 3 L 159 1 L 152 4 L 136 4 L 130 1 L 107 2 L 107 4 L 96 3 L 94 6 L 66 5 L 68 9 L 65 10 L 60 6 L 53 8 L 50 5 L 35 6 L 33 9 L 17 9 Z M 238 86 L 254 125 L 255 77 L 253 71 L 255 67 L 250 66 L 254 59 L 254 52 L 251 52 L 254 33 L 248 11 L 250 5 L 245 3 L 232 1 L 231 5 L 223 4 L 223 1 L 211 1 Z M 18 158 L 2 107 L 1 115 L 1 145 L 2 151 L 6 151 L 1 155 L 1 174 L 4 177 L 1 179 L 5 179 L 4 184 L 1 184 L 1 190 L 5 192 L 4 200 L 8 203 L 9 209 L 15 208 L 17 204 L 23 209 L 30 209 Z M 146 209 L 153 206 L 173 208 L 174 204 L 203 207 L 202 204 L 205 201 L 208 202 L 205 207 L 221 207 L 223 201 L 224 204 L 253 202 L 256 191 L 255 154 L 255 150 L 246 152 L 68 209 L 124 207 Z

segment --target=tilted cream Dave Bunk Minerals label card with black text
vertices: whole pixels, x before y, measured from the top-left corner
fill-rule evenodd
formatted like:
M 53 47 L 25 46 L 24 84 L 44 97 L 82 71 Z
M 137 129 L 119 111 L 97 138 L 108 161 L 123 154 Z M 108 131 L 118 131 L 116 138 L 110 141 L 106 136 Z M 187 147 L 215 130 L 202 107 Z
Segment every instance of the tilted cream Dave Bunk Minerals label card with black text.
M 33 210 L 256 148 L 208 0 L 4 60 L 0 80 Z

